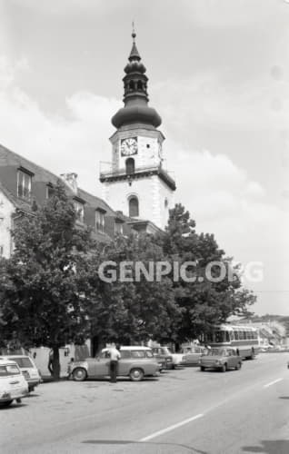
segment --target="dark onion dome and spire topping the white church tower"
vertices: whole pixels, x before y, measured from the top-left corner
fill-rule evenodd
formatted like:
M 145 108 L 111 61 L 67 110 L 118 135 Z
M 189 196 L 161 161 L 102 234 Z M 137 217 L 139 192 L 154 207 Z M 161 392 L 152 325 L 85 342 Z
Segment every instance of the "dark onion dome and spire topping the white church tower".
M 125 66 L 125 77 L 123 79 L 125 95 L 125 107 L 120 109 L 112 118 L 115 128 L 120 128 L 131 123 L 145 123 L 157 128 L 162 119 L 159 114 L 147 105 L 149 99 L 147 94 L 148 78 L 145 75 L 145 64 L 135 44 L 135 31 L 133 31 L 133 47 L 128 57 L 128 64 Z

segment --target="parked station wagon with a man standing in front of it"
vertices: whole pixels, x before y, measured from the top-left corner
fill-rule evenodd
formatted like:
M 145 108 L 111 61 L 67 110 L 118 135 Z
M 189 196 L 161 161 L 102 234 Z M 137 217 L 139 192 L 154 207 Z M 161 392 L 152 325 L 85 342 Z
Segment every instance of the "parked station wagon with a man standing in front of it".
M 144 377 L 156 376 L 160 371 L 160 364 L 148 347 L 121 347 L 120 352 L 122 357 L 118 361 L 117 376 L 140 381 Z M 104 349 L 95 358 L 71 362 L 68 373 L 75 381 L 102 379 L 109 376 L 109 363 L 109 349 Z

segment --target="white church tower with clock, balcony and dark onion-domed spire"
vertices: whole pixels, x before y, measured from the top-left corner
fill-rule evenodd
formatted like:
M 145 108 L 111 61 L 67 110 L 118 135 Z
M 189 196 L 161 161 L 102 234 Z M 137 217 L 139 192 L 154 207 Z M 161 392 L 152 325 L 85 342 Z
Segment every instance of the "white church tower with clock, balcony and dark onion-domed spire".
M 112 159 L 102 169 L 103 197 L 135 222 L 150 221 L 164 229 L 174 206 L 174 179 L 164 170 L 162 123 L 148 106 L 145 65 L 135 44 L 125 66 L 125 106 L 113 116 Z

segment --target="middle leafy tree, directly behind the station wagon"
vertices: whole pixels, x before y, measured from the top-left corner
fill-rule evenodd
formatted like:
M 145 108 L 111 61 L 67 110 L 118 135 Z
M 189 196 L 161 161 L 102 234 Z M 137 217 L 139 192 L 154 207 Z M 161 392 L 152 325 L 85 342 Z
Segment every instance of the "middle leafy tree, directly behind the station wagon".
M 137 264 L 149 271 L 150 263 L 164 260 L 162 248 L 154 244 L 150 235 L 118 237 L 104 248 L 97 248 L 90 256 L 84 276 L 85 306 L 90 308 L 91 334 L 99 343 L 117 341 L 131 344 L 149 339 L 167 339 L 178 315 L 174 291 L 169 279 L 147 280 Z M 114 262 L 112 267 L 109 262 Z M 107 267 L 105 265 L 107 263 Z M 121 266 L 125 264 L 125 281 Z M 100 275 L 115 273 L 114 281 Z

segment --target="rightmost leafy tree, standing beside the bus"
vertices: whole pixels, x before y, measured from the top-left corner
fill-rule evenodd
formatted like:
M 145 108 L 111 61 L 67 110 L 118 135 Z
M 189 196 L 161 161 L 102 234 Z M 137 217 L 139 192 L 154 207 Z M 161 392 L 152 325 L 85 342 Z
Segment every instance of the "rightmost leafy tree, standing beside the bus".
M 233 266 L 232 258 L 225 257 L 214 235 L 197 234 L 194 227 L 189 212 L 177 204 L 170 211 L 164 235 L 158 238 L 172 262 L 179 266 L 194 262 L 185 271 L 185 277 L 194 281 L 174 281 L 175 303 L 182 311 L 175 332 L 180 342 L 195 339 L 231 315 L 247 315 L 248 306 L 255 301 L 254 294 L 242 288 L 238 267 Z M 220 266 L 225 275 L 218 281 Z

